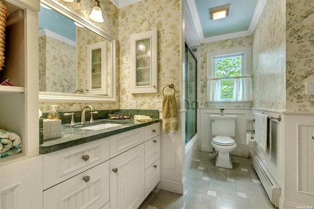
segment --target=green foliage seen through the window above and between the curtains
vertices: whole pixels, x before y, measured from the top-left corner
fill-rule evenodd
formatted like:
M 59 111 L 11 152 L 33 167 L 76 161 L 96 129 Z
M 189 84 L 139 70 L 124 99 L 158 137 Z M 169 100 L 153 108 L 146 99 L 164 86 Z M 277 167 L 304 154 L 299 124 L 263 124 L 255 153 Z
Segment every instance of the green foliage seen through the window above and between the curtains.
M 242 56 L 215 58 L 215 78 L 221 79 L 221 99 L 233 99 L 234 77 L 242 75 Z

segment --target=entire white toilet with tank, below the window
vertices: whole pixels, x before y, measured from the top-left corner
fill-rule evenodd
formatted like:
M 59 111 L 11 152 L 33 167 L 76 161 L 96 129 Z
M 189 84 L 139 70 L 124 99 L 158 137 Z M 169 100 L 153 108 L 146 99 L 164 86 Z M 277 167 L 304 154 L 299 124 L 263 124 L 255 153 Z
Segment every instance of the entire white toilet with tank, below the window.
M 218 151 L 216 166 L 233 168 L 229 153 L 236 148 L 235 121 L 236 115 L 210 115 L 211 119 L 211 145 Z

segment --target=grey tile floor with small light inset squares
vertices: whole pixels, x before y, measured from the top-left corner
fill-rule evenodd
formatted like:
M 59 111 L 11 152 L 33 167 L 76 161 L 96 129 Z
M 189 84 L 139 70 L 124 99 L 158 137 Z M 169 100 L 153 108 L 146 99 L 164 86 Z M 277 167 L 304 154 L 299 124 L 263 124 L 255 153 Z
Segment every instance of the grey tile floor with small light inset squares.
M 216 156 L 197 152 L 183 195 L 155 189 L 139 209 L 273 209 L 252 159 L 231 158 L 233 169 L 219 168 Z

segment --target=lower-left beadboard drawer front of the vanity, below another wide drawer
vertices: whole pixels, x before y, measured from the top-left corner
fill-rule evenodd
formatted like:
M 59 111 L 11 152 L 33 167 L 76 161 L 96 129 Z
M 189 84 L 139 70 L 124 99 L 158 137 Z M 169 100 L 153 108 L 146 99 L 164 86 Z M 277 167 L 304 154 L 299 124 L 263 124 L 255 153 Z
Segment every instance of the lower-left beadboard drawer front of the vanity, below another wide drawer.
M 109 161 L 44 191 L 44 209 L 100 209 L 107 202 Z

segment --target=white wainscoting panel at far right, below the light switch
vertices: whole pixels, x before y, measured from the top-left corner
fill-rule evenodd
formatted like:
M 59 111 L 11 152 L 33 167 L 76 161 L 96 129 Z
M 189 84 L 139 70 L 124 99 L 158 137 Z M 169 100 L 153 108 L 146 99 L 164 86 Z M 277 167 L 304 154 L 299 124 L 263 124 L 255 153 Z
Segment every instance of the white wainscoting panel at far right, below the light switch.
M 284 120 L 281 123 L 284 122 L 285 126 L 281 145 L 285 180 L 284 191 L 281 192 L 283 208 L 313 207 L 314 113 L 291 112 L 282 116 Z

